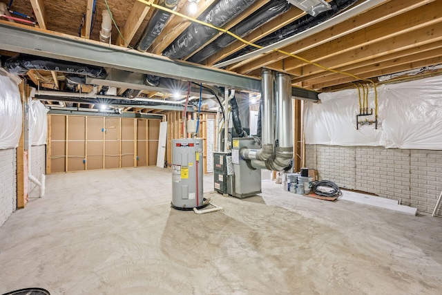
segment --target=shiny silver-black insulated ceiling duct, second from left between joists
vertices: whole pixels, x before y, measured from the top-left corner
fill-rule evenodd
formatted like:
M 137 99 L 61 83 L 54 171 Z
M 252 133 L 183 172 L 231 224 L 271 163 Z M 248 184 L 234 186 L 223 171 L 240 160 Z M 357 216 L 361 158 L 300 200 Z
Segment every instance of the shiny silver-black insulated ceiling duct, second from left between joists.
M 256 0 L 220 0 L 210 9 L 204 11 L 198 19 L 220 28 L 249 8 L 254 2 L 256 2 Z M 200 23 L 191 23 L 191 25 L 163 51 L 163 55 L 172 59 L 182 59 L 194 53 L 195 50 L 215 36 L 217 32 L 217 30 L 203 26 Z

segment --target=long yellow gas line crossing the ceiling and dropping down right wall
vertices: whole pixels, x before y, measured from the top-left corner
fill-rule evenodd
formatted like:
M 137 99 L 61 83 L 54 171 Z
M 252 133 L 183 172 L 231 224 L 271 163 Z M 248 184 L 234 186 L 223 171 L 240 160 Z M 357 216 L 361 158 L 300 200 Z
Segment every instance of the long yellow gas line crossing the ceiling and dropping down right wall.
M 104 0 L 104 1 L 106 1 L 106 0 Z M 235 38 L 235 39 L 241 41 L 241 42 L 244 43 L 244 44 L 247 44 L 247 45 L 249 45 L 249 46 L 252 46 L 252 47 L 254 47 L 254 48 L 258 48 L 258 49 L 262 49 L 262 48 L 264 48 L 264 46 L 260 46 L 260 45 L 258 45 L 258 44 L 254 44 L 254 43 L 249 42 L 249 41 L 247 41 L 247 40 L 245 40 L 245 39 L 242 39 L 240 36 L 234 34 L 233 32 L 230 32 L 230 31 L 227 30 L 227 29 L 224 29 L 224 28 L 218 28 L 217 26 L 213 26 L 211 23 L 206 23 L 206 22 L 204 22 L 204 21 L 200 21 L 199 19 L 195 19 L 195 18 L 193 18 L 193 17 L 188 17 L 187 15 L 183 15 L 183 14 L 180 13 L 180 12 L 176 12 L 176 11 L 174 11 L 174 10 L 171 10 L 171 9 L 169 9 L 169 8 L 165 8 L 165 7 L 160 6 L 160 5 L 157 5 L 157 4 L 155 4 L 155 3 L 148 2 L 148 1 L 146 1 L 146 0 L 137 0 L 137 1 L 139 1 L 139 2 L 141 2 L 141 3 L 144 3 L 144 4 L 147 5 L 147 6 L 151 6 L 151 7 L 153 7 L 153 8 L 157 8 L 157 9 L 159 9 L 159 10 L 163 10 L 163 11 L 169 12 L 169 13 L 171 13 L 171 14 L 173 14 L 173 15 L 177 15 L 178 17 L 182 17 L 182 18 L 187 19 L 187 20 L 189 20 L 189 21 L 193 21 L 194 23 L 199 23 L 199 24 L 202 25 L 202 26 L 206 26 L 206 27 L 209 27 L 209 28 L 213 28 L 214 30 L 218 30 L 218 31 L 220 31 L 220 32 L 224 32 L 225 34 L 227 34 L 227 35 L 231 35 L 231 37 L 233 37 L 233 38 Z M 106 4 L 107 4 L 107 3 L 106 3 Z M 370 83 L 372 83 L 373 86 L 374 86 L 374 94 L 375 94 L 375 97 L 374 97 L 375 111 L 374 111 L 374 112 L 375 112 L 375 116 L 377 117 L 377 115 L 378 115 L 378 92 L 376 91 L 376 84 L 375 84 L 372 80 L 370 80 L 370 79 L 363 79 L 363 78 L 361 78 L 361 77 L 358 77 L 358 76 L 356 76 L 356 75 L 353 75 L 352 73 L 347 73 L 347 72 L 344 72 L 344 71 L 342 71 L 342 70 L 334 70 L 333 68 L 327 68 L 326 66 L 322 66 L 322 65 L 320 65 L 320 64 L 317 64 L 317 63 L 314 62 L 314 61 L 311 61 L 311 60 L 309 60 L 309 59 L 305 59 L 305 58 L 303 58 L 303 57 L 300 57 L 300 56 L 298 56 L 298 55 L 294 55 L 294 54 L 292 54 L 292 53 L 288 53 L 287 51 L 280 50 L 280 49 L 278 49 L 278 48 L 274 48 L 274 49 L 272 49 L 272 50 L 273 50 L 273 51 L 276 51 L 277 53 L 282 53 L 283 55 L 287 55 L 287 56 L 289 56 L 289 57 L 294 57 L 294 58 L 296 58 L 296 59 L 299 59 L 300 61 L 304 61 L 304 62 L 306 62 L 307 64 L 311 64 L 311 65 L 313 65 L 313 66 L 317 66 L 318 68 L 322 68 L 323 70 L 327 70 L 327 71 L 332 72 L 332 73 L 338 73 L 338 74 L 341 74 L 341 75 L 347 75 L 347 76 L 349 76 L 349 77 L 354 77 L 354 79 L 357 79 L 357 80 L 361 80 L 361 81 L 366 81 L 366 82 L 370 82 Z

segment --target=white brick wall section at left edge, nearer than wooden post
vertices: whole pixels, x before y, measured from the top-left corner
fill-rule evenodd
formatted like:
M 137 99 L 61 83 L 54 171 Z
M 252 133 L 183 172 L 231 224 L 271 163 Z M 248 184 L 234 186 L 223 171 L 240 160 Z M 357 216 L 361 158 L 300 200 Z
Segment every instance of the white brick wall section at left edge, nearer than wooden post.
M 0 150 L 0 226 L 17 208 L 17 149 Z

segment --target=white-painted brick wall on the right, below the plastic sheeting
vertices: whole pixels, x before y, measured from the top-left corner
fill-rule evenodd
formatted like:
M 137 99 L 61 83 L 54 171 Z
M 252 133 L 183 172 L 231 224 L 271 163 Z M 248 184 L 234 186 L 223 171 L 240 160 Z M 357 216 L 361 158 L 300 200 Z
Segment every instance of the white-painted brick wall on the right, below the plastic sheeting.
M 305 160 L 320 179 L 400 200 L 421 212 L 432 213 L 442 191 L 442 151 L 307 144 Z

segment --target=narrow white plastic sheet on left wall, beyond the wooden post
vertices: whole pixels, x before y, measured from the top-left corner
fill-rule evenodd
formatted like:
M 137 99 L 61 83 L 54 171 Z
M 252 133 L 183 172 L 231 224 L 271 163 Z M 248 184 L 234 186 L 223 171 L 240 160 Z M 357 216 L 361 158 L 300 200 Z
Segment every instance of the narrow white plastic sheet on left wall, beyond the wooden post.
M 46 144 L 48 137 L 48 109 L 39 100 L 32 100 L 30 104 L 29 126 L 30 126 L 30 144 L 38 146 Z

